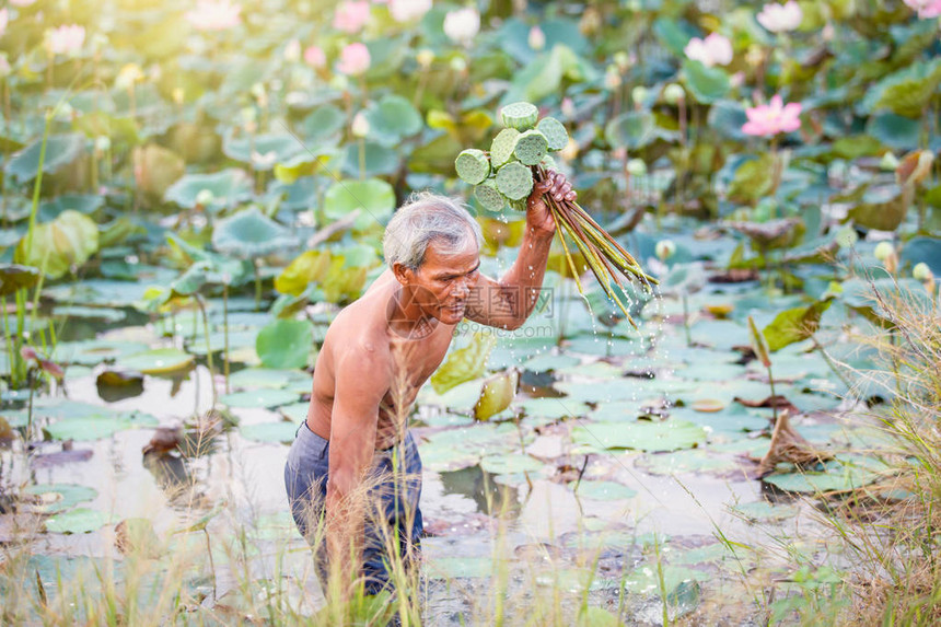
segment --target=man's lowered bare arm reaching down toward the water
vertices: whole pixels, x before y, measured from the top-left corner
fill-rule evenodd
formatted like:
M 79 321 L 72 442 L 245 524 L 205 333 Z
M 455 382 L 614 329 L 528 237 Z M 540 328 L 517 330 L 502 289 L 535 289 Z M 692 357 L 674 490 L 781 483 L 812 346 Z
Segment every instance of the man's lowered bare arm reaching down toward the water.
M 379 405 L 388 390 L 384 347 L 355 345 L 336 361 L 336 388 L 330 417 L 326 541 L 332 572 L 351 581 L 362 562 L 365 495 L 362 479 L 375 451 Z M 344 589 L 346 592 L 346 589 Z

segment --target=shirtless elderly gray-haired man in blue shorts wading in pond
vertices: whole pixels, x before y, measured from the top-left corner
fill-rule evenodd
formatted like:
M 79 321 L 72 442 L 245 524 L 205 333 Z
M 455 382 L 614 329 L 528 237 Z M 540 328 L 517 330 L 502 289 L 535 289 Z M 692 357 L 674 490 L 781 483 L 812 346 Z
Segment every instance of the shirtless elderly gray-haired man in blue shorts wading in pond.
M 421 461 L 406 418 L 463 318 L 514 329 L 528 317 L 555 233 L 544 194 L 576 198 L 555 172 L 536 185 L 520 255 L 499 281 L 478 270 L 480 227 L 467 210 L 414 196 L 385 230 L 388 269 L 327 330 L 284 466 L 291 513 L 314 546 L 322 585 L 329 565 L 340 581 L 358 578 L 375 594 L 390 587 L 394 565 L 406 572 L 415 565 Z

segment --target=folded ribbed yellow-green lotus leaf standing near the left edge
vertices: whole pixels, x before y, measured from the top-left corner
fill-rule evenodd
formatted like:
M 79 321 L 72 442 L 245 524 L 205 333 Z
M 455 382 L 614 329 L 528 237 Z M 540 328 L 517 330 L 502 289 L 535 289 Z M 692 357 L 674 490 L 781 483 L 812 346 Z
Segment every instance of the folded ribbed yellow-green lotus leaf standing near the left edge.
M 81 266 L 97 252 L 98 228 L 84 213 L 67 209 L 51 222 L 38 224 L 28 249 L 27 244 L 27 236 L 20 240 L 14 259 L 58 279 L 73 265 Z

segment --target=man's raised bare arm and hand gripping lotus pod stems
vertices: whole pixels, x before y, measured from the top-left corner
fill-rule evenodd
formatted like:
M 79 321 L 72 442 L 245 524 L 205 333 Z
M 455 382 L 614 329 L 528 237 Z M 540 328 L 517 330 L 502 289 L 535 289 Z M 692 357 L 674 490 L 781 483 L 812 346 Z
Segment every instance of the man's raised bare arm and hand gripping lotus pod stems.
M 473 288 L 477 293 L 468 298 L 465 313 L 468 320 L 514 329 L 530 317 L 539 298 L 549 248 L 556 233 L 556 222 L 543 200 L 545 194 L 556 200 L 576 199 L 571 183 L 557 172 L 549 171 L 546 181 L 535 184 L 526 200 L 526 231 L 516 262 L 500 280 L 479 276 Z

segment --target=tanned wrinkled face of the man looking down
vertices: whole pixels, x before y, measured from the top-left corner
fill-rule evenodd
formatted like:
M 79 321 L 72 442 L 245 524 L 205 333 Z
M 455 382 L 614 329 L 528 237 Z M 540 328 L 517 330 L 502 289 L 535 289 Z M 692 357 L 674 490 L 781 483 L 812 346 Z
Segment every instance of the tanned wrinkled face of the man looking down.
M 426 315 L 444 324 L 460 323 L 471 289 L 477 283 L 479 267 L 480 256 L 474 240 L 458 249 L 432 242 L 425 262 L 410 274 L 414 302 Z

